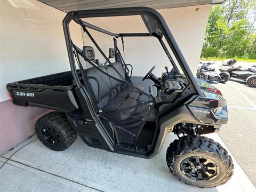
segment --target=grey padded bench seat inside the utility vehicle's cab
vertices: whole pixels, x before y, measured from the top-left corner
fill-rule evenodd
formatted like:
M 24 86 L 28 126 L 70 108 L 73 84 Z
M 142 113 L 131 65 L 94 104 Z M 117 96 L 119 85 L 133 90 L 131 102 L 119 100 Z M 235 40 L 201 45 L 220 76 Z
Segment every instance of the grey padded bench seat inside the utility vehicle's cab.
M 105 73 L 123 81 L 125 78 L 124 69 L 121 63 L 113 63 L 113 67 L 98 66 L 100 70 Z M 130 106 L 136 106 L 138 98 L 141 93 L 134 89 L 132 86 L 125 86 L 122 82 L 103 74 L 96 67 L 85 70 L 87 77 L 89 77 L 89 84 L 93 91 L 94 97 L 97 100 L 97 106 L 103 110 L 117 110 Z M 117 73 L 118 71 L 118 73 Z M 93 77 L 93 78 L 90 78 Z M 144 90 L 142 86 L 137 86 L 138 89 Z M 134 109 L 133 109 L 134 110 Z

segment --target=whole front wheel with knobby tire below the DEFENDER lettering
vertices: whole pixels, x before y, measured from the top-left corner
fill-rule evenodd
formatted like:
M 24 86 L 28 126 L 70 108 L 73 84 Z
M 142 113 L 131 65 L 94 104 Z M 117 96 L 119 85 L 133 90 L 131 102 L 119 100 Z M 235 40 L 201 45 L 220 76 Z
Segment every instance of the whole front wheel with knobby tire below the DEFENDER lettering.
M 234 169 L 227 150 L 202 136 L 185 136 L 174 140 L 167 149 L 166 162 L 175 178 L 199 188 L 226 183 Z

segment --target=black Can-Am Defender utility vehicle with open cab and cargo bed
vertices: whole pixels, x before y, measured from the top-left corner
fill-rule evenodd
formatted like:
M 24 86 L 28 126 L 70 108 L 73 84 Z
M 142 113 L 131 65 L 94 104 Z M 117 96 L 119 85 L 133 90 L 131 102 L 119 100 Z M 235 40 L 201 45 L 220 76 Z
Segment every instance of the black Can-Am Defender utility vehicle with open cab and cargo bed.
M 142 19 L 147 32 L 112 33 L 84 20 L 127 15 Z M 81 26 L 105 63 L 96 59 L 92 46 L 74 44 L 70 21 Z M 178 139 L 167 149 L 166 162 L 175 178 L 201 188 L 217 187 L 231 178 L 234 165 L 227 150 L 201 136 L 219 131 L 227 123 L 226 101 L 207 82 L 197 84 L 161 14 L 147 7 L 72 11 L 64 18 L 63 29 L 71 71 L 6 85 L 15 105 L 55 110 L 35 125 L 46 147 L 65 150 L 78 134 L 90 147 L 153 158 L 172 132 Z M 108 56 L 92 31 L 113 38 Z M 124 38 L 140 37 L 156 38 L 172 69 L 165 67 L 157 77 L 153 67 L 134 85 L 133 66 L 125 62 L 117 45 L 119 42 L 124 47 Z M 145 82 L 151 82 L 149 91 L 143 91 Z

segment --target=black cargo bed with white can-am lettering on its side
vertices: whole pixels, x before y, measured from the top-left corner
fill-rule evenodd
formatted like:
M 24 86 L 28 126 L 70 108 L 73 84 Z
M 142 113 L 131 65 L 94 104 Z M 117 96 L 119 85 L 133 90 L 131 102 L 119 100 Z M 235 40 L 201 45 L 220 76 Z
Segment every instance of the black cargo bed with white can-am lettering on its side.
M 71 71 L 26 79 L 6 85 L 18 106 L 42 107 L 64 113 L 78 109 Z

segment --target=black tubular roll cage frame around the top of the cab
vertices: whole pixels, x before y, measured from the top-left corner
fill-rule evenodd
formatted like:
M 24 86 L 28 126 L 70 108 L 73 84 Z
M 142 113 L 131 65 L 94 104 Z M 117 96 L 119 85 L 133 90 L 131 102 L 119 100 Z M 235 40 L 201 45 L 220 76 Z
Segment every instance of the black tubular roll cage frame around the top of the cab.
M 87 23 L 85 21 L 82 21 L 83 18 L 92 18 L 92 17 L 114 17 L 114 16 L 127 16 L 127 15 L 141 15 L 142 20 L 145 23 L 145 26 L 148 29 L 149 33 L 111 33 L 110 31 L 107 31 L 105 29 L 101 29 L 100 27 L 94 26 L 90 23 Z M 188 63 L 183 57 L 183 54 L 181 53 L 178 44 L 176 43 L 170 29 L 167 26 L 167 23 L 165 22 L 164 18 L 161 14 L 159 14 L 156 10 L 151 9 L 149 7 L 127 7 L 127 8 L 117 8 L 117 9 L 101 9 L 101 10 L 84 10 L 84 11 L 71 11 L 69 12 L 66 17 L 63 19 L 63 30 L 67 45 L 67 51 L 68 51 L 68 57 L 70 62 L 70 68 L 75 80 L 75 84 L 78 88 L 81 87 L 81 82 L 79 81 L 76 68 L 75 68 L 75 60 L 72 50 L 72 42 L 70 37 L 70 31 L 69 31 L 69 23 L 71 20 L 74 20 L 76 23 L 81 25 L 83 28 L 87 27 L 93 30 L 97 30 L 101 33 L 113 36 L 113 37 L 145 37 L 145 36 L 153 36 L 156 37 L 159 41 L 159 43 L 162 45 L 165 53 L 167 54 L 167 57 L 171 61 L 173 67 L 175 70 L 178 70 L 178 67 L 175 65 L 171 54 L 167 50 L 162 38 L 163 36 L 166 39 L 167 44 L 170 46 L 175 59 L 179 63 L 179 66 L 181 67 L 183 73 L 185 74 L 188 82 L 189 82 L 189 92 L 194 93 L 197 95 L 203 95 L 201 89 L 197 85 L 194 75 L 191 73 L 191 70 L 188 67 Z M 107 59 L 107 58 L 106 58 Z M 188 88 L 188 87 L 186 87 Z M 185 89 L 186 90 L 186 89 Z M 184 90 L 184 91 L 185 91 Z M 188 90 L 187 90 L 188 91 Z

